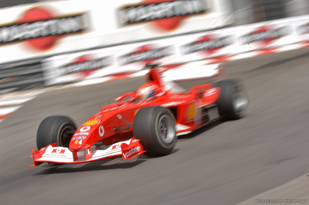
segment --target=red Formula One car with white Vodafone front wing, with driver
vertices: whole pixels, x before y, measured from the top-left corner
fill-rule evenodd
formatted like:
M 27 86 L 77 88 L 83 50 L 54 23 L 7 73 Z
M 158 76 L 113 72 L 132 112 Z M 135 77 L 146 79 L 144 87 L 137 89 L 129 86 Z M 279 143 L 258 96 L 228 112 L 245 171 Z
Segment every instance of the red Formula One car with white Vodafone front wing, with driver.
M 181 66 L 172 75 L 154 65 L 146 74 L 146 84 L 136 92 L 123 94 L 105 106 L 79 128 L 65 116 L 45 118 L 37 131 L 34 165 L 82 163 L 109 157 L 131 159 L 142 153 L 148 156 L 171 152 L 178 135 L 187 134 L 214 119 L 239 119 L 247 107 L 241 84 L 225 80 L 225 69 L 215 65 L 208 73 L 212 82 L 182 90 L 171 80 L 192 78 L 207 69 Z M 214 65 L 213 65 L 214 66 Z M 194 72 L 193 72 L 194 71 Z M 163 75 L 163 73 L 165 73 Z M 169 79 L 170 78 L 170 79 Z M 193 77 L 194 78 L 194 77 Z M 177 79 L 176 79 L 177 80 Z M 127 99 L 127 100 L 125 100 Z M 147 151 L 145 151 L 147 150 Z

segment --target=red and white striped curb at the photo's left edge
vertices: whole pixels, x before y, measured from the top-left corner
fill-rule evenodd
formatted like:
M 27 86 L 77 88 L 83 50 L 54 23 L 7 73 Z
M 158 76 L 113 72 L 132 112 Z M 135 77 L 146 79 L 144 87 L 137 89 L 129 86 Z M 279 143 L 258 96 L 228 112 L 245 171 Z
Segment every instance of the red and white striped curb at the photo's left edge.
M 0 98 L 0 123 L 13 112 L 21 108 L 25 102 L 32 100 L 44 91 L 28 92 L 23 94 L 8 94 Z

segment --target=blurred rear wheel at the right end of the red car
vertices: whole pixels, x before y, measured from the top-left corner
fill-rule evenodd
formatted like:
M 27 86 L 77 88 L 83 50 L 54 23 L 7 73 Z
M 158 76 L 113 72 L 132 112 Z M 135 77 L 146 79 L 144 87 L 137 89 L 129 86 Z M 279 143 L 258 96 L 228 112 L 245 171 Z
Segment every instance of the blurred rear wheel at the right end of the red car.
M 240 119 L 248 104 L 247 93 L 239 80 L 223 80 L 217 82 L 215 87 L 221 87 L 217 100 L 220 115 L 226 120 Z

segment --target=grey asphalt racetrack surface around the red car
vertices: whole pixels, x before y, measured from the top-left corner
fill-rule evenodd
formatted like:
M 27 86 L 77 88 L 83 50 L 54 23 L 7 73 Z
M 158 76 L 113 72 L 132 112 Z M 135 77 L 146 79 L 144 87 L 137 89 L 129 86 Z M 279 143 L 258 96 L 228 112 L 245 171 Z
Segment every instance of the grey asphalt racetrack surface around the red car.
M 298 178 L 309 170 L 308 64 L 308 48 L 227 62 L 248 90 L 247 116 L 180 137 L 170 155 L 129 161 L 28 167 L 45 117 L 79 126 L 143 77 L 44 92 L 0 124 L 0 204 L 237 204 Z

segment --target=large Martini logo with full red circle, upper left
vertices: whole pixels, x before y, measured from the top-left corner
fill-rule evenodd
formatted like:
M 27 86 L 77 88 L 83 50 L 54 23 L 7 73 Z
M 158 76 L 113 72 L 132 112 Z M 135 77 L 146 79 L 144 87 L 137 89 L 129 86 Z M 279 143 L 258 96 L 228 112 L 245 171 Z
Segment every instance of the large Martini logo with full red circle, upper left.
M 31 7 L 15 22 L 0 25 L 0 45 L 25 41 L 28 48 L 49 50 L 64 35 L 86 31 L 86 14 L 59 16 L 51 6 Z

